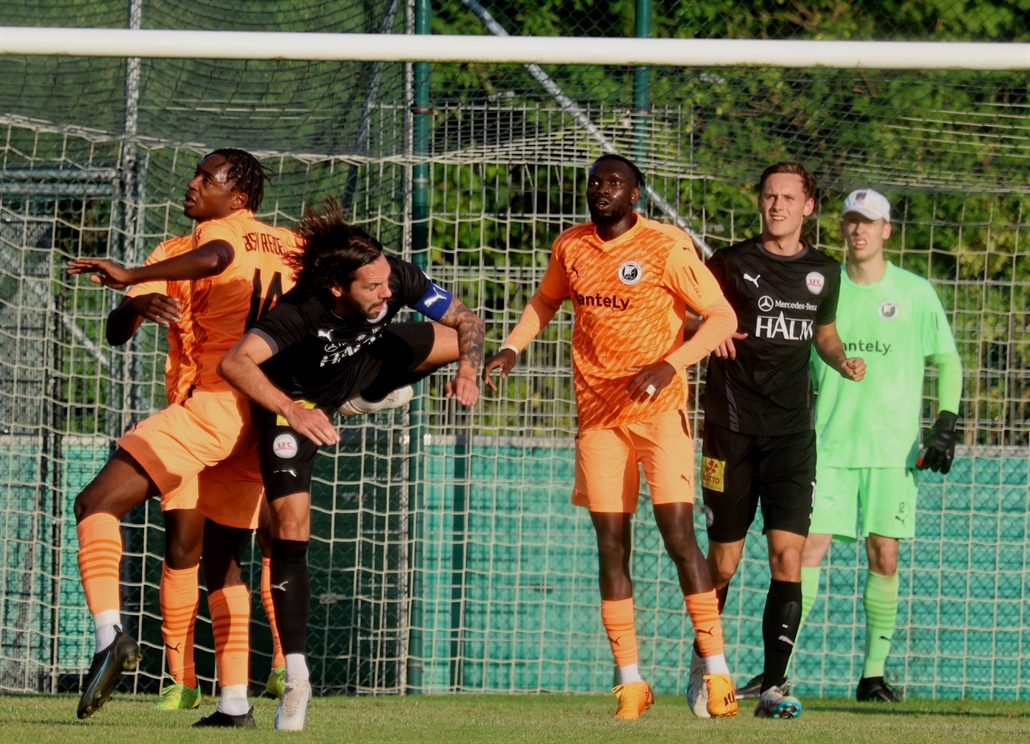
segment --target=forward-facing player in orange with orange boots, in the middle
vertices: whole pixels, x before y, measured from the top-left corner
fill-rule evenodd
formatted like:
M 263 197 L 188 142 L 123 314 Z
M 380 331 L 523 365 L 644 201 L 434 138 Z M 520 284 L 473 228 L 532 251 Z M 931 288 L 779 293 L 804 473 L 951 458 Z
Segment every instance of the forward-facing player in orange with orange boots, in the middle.
M 499 370 L 502 379 L 507 377 L 516 354 L 572 298 L 579 414 L 573 503 L 590 511 L 597 535 L 600 615 L 618 667 L 615 715 L 639 718 L 654 702 L 638 668 L 629 576 L 638 463 L 700 641 L 708 712 L 735 715 L 718 603 L 694 536 L 685 370 L 729 337 L 736 316 L 690 239 L 633 213 L 643 187 L 643 174 L 624 158 L 608 155 L 593 164 L 586 192 L 591 222 L 554 241 L 540 290 L 501 351 L 486 363 L 483 380 L 495 391 L 490 373 Z M 688 306 L 703 323 L 684 343 Z

